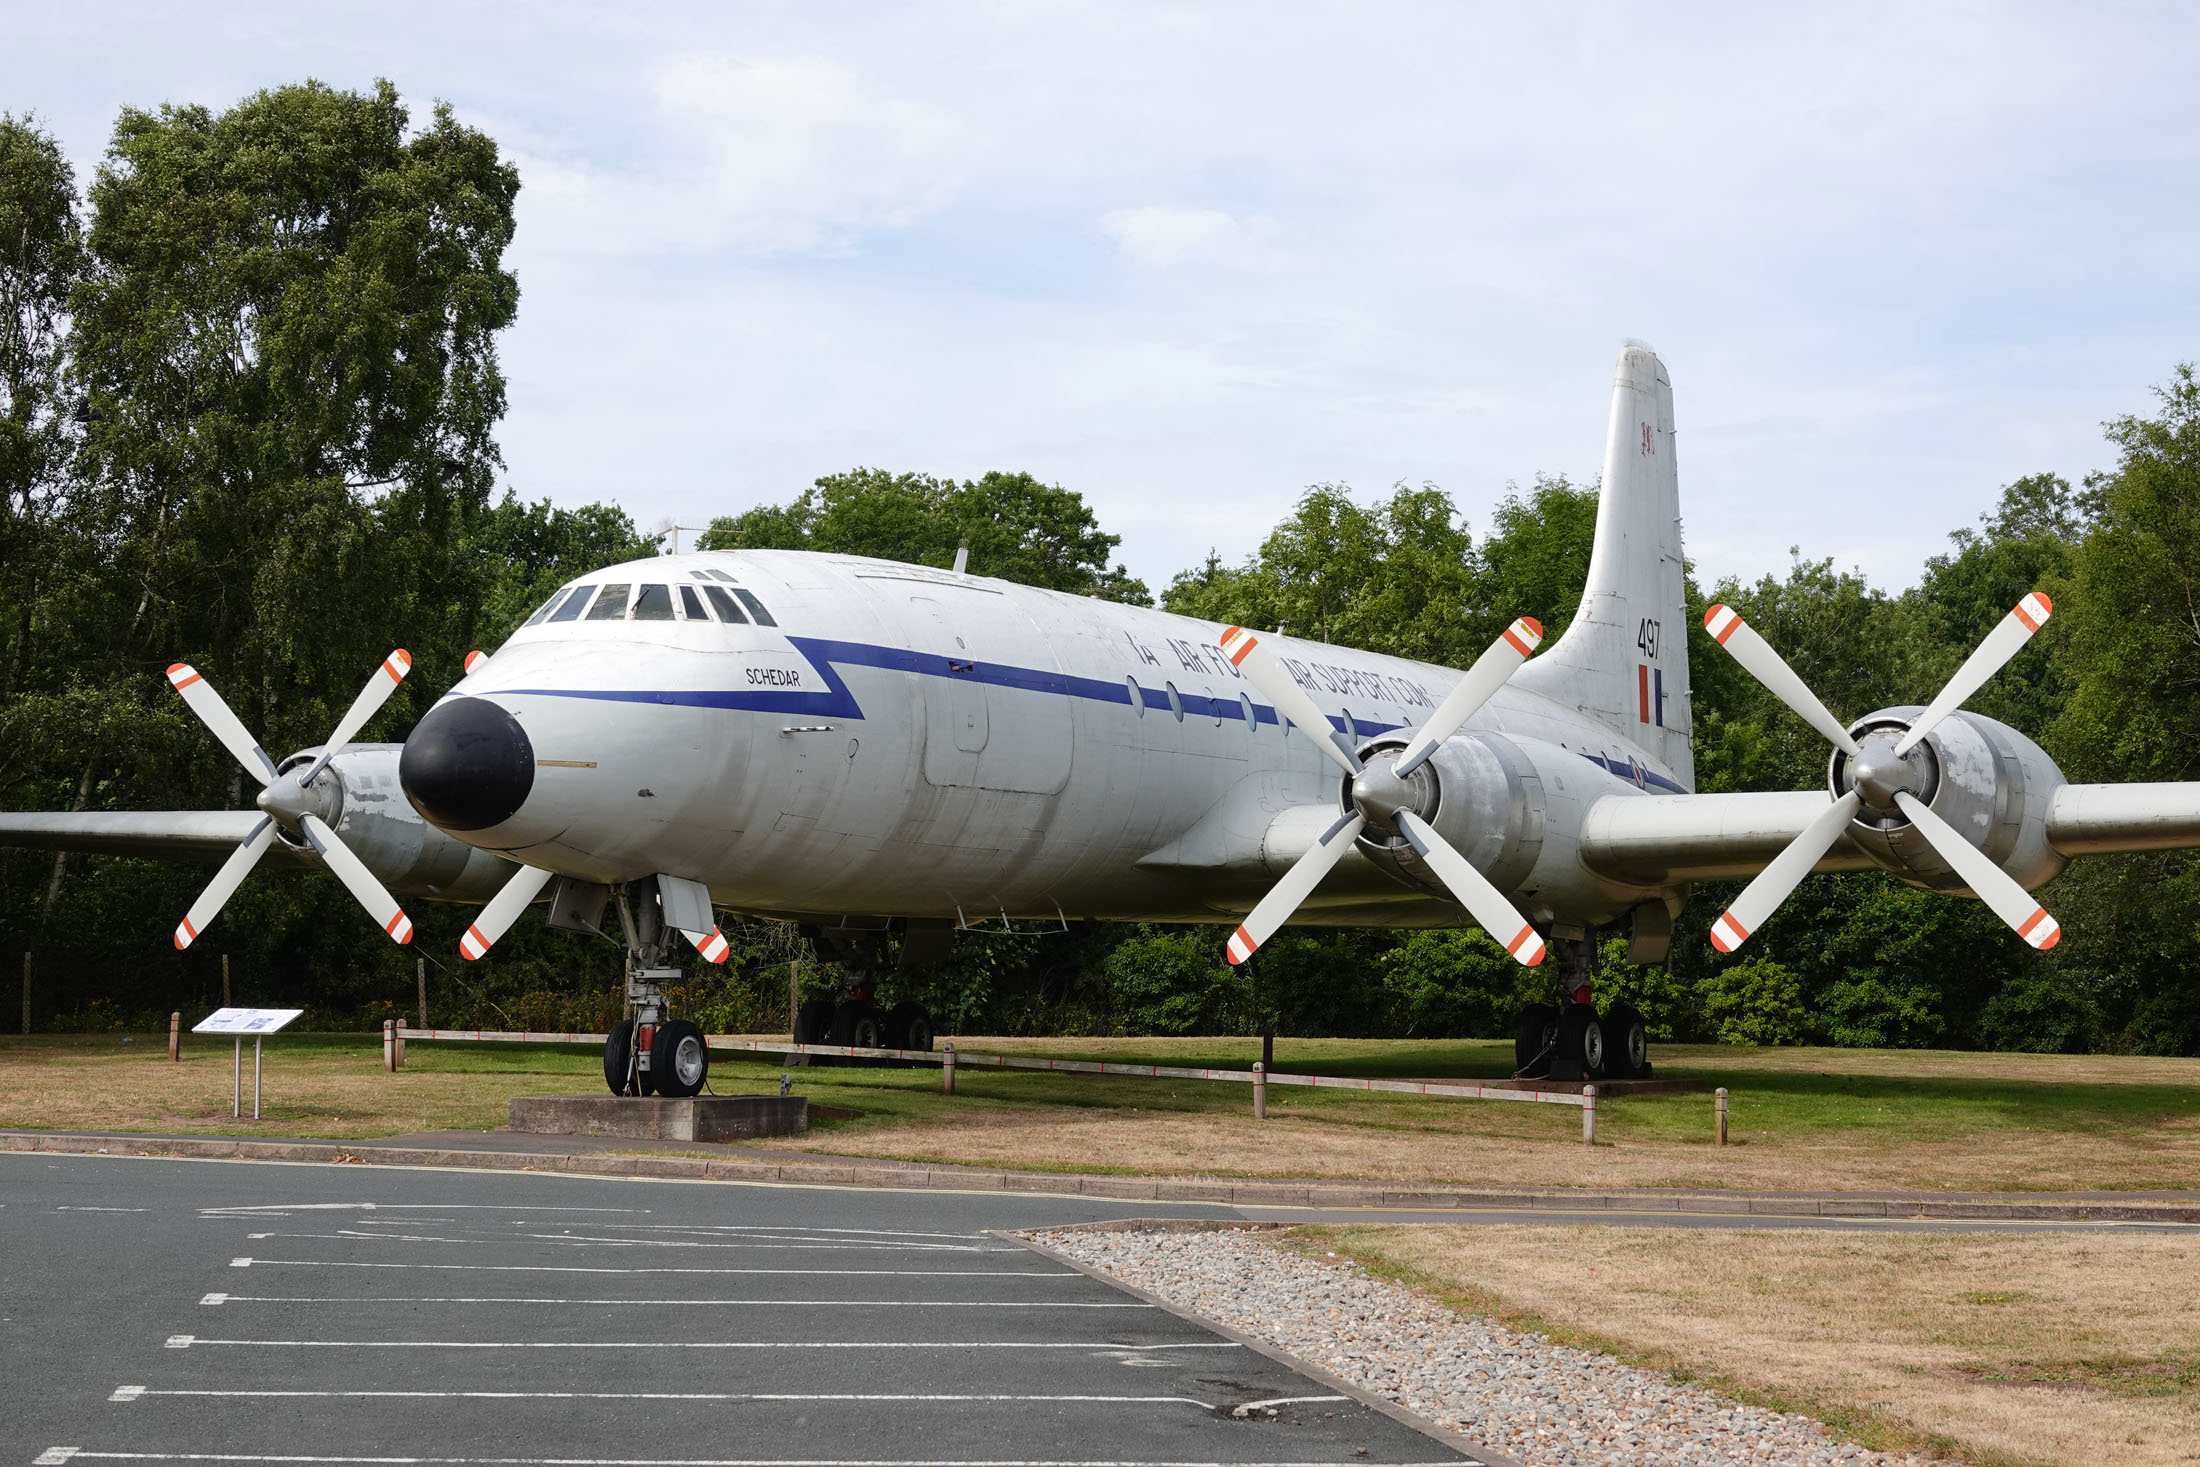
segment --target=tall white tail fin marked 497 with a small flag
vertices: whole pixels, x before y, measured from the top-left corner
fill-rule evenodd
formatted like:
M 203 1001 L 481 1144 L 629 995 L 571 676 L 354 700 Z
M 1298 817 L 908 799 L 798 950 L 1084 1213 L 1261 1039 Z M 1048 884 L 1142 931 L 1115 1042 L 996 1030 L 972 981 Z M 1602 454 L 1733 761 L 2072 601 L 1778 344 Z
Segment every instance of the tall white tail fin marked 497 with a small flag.
M 1619 352 L 1597 541 L 1582 609 L 1514 682 L 1626 735 L 1696 787 L 1672 383 L 1641 343 Z

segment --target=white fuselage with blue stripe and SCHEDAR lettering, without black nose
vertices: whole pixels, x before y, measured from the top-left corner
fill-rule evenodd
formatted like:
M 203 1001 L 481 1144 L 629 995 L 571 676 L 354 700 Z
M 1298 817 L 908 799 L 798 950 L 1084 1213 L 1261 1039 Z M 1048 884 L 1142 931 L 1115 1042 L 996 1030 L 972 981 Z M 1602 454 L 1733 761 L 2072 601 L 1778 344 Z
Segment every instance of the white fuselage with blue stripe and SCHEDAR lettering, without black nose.
M 678 587 L 711 581 L 777 625 L 689 618 Z M 581 880 L 700 880 L 746 913 L 1234 922 L 1338 809 L 1335 770 L 1250 695 L 1214 622 L 807 552 L 583 578 L 612 583 L 629 600 L 669 587 L 673 618 L 530 625 L 453 688 L 510 710 L 535 757 L 517 814 L 462 840 Z M 1272 647 L 1360 746 L 1417 726 L 1459 677 Z M 1533 860 L 1509 884 L 1522 911 L 1593 924 L 1659 895 L 1577 851 L 1591 803 L 1681 790 L 1648 748 L 1522 686 L 1456 737 L 1474 735 L 1540 779 Z M 1357 856 L 1305 919 L 1465 922 Z

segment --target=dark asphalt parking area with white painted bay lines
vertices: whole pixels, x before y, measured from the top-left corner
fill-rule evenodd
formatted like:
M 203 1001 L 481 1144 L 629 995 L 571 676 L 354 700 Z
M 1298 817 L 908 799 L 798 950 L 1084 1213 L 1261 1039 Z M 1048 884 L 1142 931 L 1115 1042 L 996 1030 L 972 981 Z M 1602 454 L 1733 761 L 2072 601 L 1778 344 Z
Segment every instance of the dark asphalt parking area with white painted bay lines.
M 1155 1214 L 0 1152 L 0 1467 L 1461 1460 L 986 1236 Z

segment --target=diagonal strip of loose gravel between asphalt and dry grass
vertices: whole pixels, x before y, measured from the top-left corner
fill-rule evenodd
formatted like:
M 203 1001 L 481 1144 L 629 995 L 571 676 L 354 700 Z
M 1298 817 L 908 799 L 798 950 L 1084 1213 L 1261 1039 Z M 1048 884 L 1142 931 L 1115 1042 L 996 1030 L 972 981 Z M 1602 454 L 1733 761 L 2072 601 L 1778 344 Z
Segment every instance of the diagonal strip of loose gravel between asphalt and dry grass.
M 1608 1355 L 1456 1315 L 1258 1232 L 1030 1232 L 1111 1278 L 1274 1344 L 1529 1467 L 1921 1467 L 1808 1416 L 1736 1405 Z

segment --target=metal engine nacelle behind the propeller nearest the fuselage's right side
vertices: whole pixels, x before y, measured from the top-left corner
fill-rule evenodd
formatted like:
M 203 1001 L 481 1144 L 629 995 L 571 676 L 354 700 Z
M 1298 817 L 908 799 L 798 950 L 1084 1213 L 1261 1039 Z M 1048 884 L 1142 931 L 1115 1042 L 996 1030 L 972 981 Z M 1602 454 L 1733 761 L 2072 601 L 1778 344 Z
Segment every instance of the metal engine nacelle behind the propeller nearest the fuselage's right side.
M 1404 739 L 1368 743 L 1360 757 L 1375 765 L 1395 759 Z M 1452 849 L 1465 856 L 1498 891 L 1511 891 L 1536 869 L 1542 856 L 1544 794 L 1536 763 L 1505 735 L 1456 735 L 1437 746 L 1419 770 L 1408 774 L 1399 805 L 1437 827 Z M 1344 785 L 1342 809 L 1351 803 Z M 1360 829 L 1360 849 L 1368 860 L 1395 875 L 1448 897 L 1437 873 L 1415 853 L 1395 827 L 1368 818 Z

